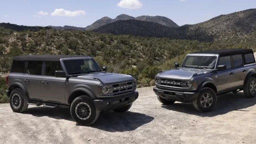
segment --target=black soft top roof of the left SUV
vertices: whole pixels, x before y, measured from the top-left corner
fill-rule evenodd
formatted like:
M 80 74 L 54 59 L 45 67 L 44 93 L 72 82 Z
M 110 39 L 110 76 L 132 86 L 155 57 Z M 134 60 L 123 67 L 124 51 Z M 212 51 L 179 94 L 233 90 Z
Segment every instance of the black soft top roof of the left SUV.
M 87 57 L 85 55 L 20 55 L 14 56 L 12 60 L 18 61 L 27 61 L 27 60 L 36 60 L 36 61 L 59 61 L 60 58 L 69 58 L 69 57 Z

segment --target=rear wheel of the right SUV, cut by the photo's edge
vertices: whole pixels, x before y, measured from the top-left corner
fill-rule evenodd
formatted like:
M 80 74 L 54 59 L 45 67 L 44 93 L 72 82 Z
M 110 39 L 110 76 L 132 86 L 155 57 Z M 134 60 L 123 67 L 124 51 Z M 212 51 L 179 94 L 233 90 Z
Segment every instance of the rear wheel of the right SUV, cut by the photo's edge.
M 254 85 L 253 85 L 253 83 L 254 83 Z M 255 87 L 256 85 L 255 84 L 256 84 L 256 78 L 250 77 L 243 88 L 243 93 L 244 93 L 245 97 L 248 97 L 248 98 L 255 97 L 255 95 L 256 95 L 256 87 Z M 251 91 L 251 88 L 253 88 L 252 91 Z M 253 91 L 254 91 L 254 93 L 253 93 Z

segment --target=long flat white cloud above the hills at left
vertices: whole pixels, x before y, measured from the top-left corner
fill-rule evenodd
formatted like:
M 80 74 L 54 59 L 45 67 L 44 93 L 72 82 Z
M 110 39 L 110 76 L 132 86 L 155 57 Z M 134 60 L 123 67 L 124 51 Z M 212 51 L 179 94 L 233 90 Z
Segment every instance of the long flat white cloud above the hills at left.
M 84 15 L 85 12 L 83 10 L 65 10 L 63 8 L 55 8 L 53 12 L 50 13 L 52 16 L 77 16 L 77 15 Z

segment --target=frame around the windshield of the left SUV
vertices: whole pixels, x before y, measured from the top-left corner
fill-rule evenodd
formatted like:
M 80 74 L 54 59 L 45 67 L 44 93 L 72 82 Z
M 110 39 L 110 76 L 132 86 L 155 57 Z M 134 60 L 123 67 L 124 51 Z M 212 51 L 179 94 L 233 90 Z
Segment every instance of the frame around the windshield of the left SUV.
M 65 71 L 66 75 L 88 74 L 86 72 L 84 72 L 84 73 L 77 73 L 77 74 L 70 74 L 70 73 L 68 73 L 64 61 L 77 60 L 77 59 L 88 59 L 88 60 L 91 60 L 93 62 L 93 66 L 95 67 L 95 69 L 99 70 L 97 72 L 102 72 L 101 68 L 98 66 L 97 62 L 92 57 L 85 57 L 85 56 L 84 57 L 68 57 L 68 58 L 61 58 L 60 59 L 60 64 L 63 67 L 63 70 Z M 92 72 L 92 73 L 94 73 L 94 72 Z

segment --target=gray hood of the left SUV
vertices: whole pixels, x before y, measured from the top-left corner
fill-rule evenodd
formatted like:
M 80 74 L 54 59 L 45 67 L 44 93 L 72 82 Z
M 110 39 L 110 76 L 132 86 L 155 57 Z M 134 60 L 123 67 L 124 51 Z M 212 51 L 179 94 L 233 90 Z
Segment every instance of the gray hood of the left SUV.
M 118 83 L 122 81 L 134 80 L 134 77 L 128 74 L 118 74 L 118 73 L 108 73 L 108 72 L 99 72 L 99 73 L 89 73 L 77 76 L 78 78 L 95 78 L 99 79 L 102 84 Z

